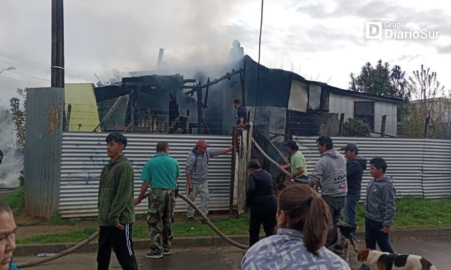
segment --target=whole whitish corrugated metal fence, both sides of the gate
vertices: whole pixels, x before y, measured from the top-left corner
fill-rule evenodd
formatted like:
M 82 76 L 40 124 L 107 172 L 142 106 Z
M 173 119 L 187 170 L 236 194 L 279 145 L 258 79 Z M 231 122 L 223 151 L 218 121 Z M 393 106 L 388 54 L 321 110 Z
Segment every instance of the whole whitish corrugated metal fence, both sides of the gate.
M 61 158 L 61 187 L 59 211 L 63 217 L 97 215 L 97 194 L 100 171 L 108 162 L 105 137 L 107 133 L 64 132 Z M 222 149 L 231 145 L 231 136 L 186 134 L 126 134 L 129 141 L 124 153 L 135 170 L 135 195 L 141 186 L 142 166 L 155 155 L 157 142 L 165 140 L 171 147 L 170 155 L 180 164 L 180 191 L 185 192 L 184 166 L 187 153 L 202 137 L 211 148 Z M 307 161 L 310 173 L 319 159 L 317 137 L 294 137 Z M 358 138 L 333 137 L 335 149 L 355 142 L 359 155 L 368 161 L 382 157 L 388 163 L 387 174 L 395 178 L 397 196 L 424 196 L 437 198 L 451 196 L 451 141 L 438 139 Z M 343 152 L 343 150 L 339 150 Z M 215 157 L 208 166 L 210 209 L 227 210 L 230 192 L 230 153 Z M 362 199 L 370 180 L 369 164 L 364 172 Z M 199 204 L 199 199 L 197 202 Z M 136 207 L 137 213 L 146 210 L 146 202 Z M 176 212 L 185 206 L 177 200 Z

